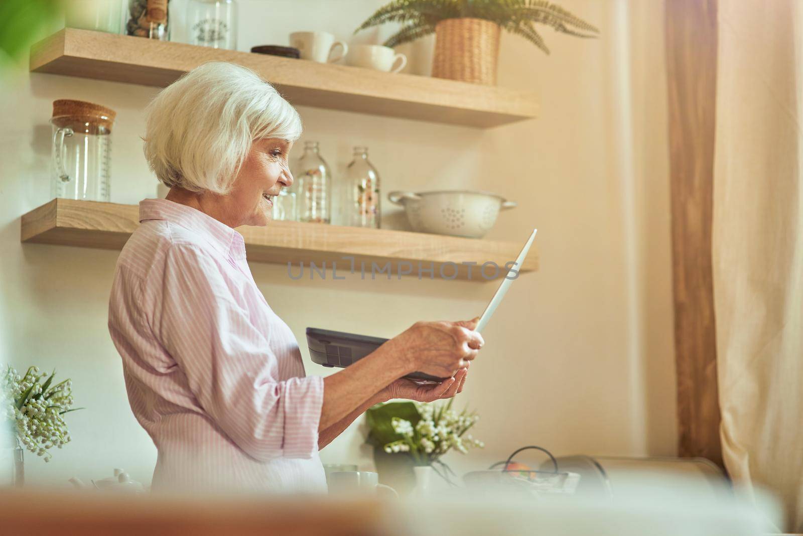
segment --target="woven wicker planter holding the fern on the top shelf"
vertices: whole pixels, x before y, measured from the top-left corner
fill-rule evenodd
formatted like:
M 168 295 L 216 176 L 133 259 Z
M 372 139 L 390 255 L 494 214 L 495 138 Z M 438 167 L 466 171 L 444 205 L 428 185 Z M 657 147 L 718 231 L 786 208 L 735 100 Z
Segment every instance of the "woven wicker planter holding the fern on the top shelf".
M 483 18 L 446 18 L 435 26 L 435 78 L 496 85 L 499 25 Z

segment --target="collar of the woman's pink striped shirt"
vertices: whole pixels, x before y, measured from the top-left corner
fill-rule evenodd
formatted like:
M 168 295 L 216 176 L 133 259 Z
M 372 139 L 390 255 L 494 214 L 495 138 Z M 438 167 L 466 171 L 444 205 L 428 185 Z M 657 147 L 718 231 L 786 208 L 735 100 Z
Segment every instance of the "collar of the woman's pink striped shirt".
M 234 260 L 246 257 L 243 235 L 190 206 L 166 199 L 144 199 L 140 201 L 140 222 L 147 220 L 164 220 L 181 225 L 202 234 L 212 246 Z

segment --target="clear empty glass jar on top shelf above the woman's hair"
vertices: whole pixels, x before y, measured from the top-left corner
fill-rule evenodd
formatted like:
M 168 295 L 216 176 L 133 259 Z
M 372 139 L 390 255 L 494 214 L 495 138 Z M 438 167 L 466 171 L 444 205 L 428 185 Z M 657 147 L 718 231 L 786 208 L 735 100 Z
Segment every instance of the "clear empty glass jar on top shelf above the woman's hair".
M 190 0 L 187 28 L 190 45 L 237 49 L 237 3 L 234 0 Z

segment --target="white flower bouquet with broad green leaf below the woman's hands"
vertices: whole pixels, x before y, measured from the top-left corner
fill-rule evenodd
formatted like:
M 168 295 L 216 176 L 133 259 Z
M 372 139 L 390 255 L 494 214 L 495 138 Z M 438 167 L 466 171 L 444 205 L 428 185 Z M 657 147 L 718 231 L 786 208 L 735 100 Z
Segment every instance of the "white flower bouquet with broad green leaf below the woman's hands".
M 465 454 L 471 448 L 483 448 L 482 441 L 467 433 L 479 416 L 466 409 L 455 411 L 453 401 L 378 404 L 367 412 L 368 441 L 386 453 L 412 457 L 415 465 L 432 465 L 451 449 Z

